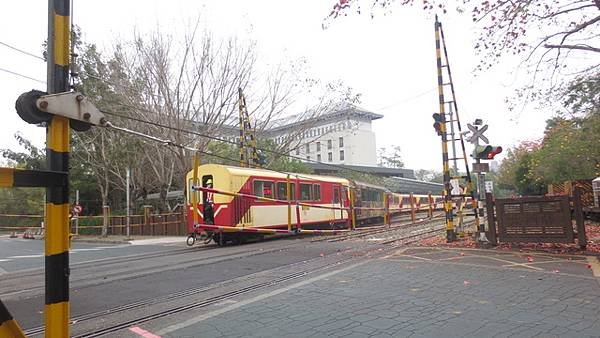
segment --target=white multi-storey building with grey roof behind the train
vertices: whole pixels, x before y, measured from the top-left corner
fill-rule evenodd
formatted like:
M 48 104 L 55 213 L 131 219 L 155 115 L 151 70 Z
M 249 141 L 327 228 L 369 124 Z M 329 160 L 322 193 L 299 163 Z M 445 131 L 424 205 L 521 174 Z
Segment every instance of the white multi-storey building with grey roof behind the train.
M 290 155 L 308 161 L 376 166 L 377 148 L 371 121 L 382 117 L 345 105 L 313 118 L 274 121 L 273 126 L 265 130 L 265 136 L 278 145 L 289 144 Z

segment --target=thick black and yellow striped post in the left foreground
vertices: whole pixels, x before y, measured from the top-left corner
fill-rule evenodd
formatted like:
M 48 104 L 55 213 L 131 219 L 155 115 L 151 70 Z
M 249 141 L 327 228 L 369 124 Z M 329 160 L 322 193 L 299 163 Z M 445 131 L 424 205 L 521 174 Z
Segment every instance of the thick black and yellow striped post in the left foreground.
M 48 1 L 48 93 L 69 91 L 69 0 Z M 48 170 L 68 173 L 69 120 L 54 116 L 46 130 Z M 67 174 L 68 175 L 68 174 Z M 46 337 L 69 336 L 69 181 L 46 191 Z

